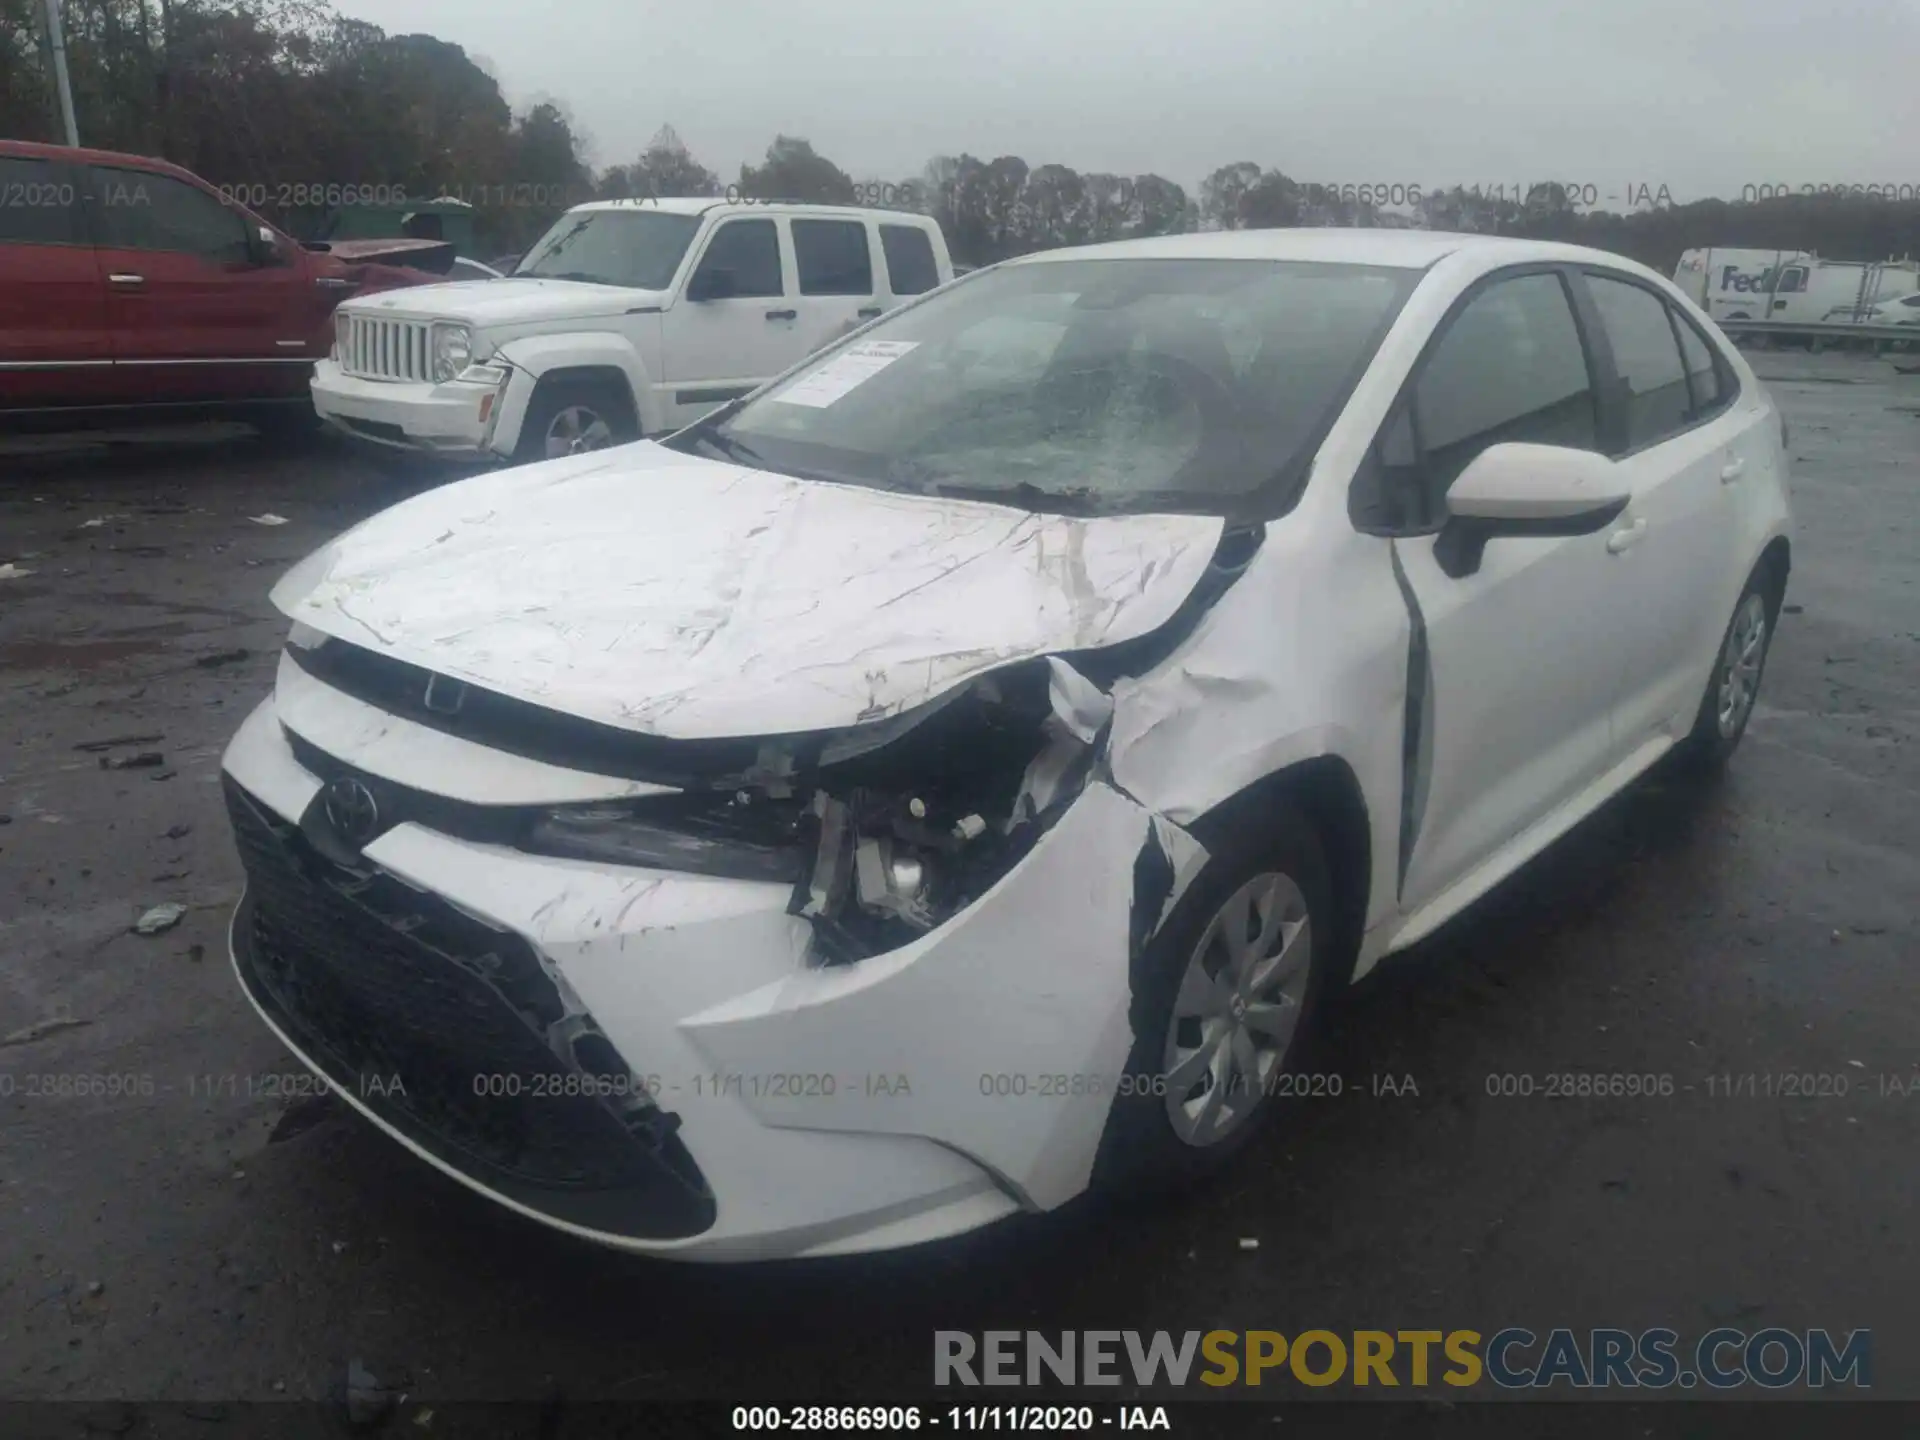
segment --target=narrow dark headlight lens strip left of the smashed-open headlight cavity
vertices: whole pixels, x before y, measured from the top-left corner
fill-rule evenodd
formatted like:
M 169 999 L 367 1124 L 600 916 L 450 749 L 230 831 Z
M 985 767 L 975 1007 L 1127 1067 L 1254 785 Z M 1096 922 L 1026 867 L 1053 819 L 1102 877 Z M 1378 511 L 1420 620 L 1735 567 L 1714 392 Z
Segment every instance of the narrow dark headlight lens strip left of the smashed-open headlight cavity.
M 724 879 L 791 885 L 806 870 L 799 812 L 774 803 L 568 804 L 536 816 L 522 849 Z

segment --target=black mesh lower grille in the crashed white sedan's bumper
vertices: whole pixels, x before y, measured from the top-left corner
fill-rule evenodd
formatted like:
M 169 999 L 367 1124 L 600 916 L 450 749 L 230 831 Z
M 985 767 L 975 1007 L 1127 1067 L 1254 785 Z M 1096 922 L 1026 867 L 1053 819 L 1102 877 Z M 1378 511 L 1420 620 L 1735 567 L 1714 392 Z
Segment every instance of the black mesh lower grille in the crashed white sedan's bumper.
M 227 781 L 248 874 L 248 989 L 340 1089 L 436 1158 L 534 1210 L 668 1238 L 712 1225 L 705 1179 L 540 956 L 374 868 L 326 860 Z M 561 1021 L 566 1021 L 564 1025 Z M 578 1035 L 574 1060 L 549 1027 Z

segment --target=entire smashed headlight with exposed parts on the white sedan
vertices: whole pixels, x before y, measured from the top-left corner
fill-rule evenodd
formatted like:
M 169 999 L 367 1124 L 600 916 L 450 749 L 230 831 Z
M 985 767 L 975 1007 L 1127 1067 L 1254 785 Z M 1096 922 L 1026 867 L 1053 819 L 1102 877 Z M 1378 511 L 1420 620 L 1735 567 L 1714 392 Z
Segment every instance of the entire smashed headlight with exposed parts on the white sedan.
M 1112 697 L 1064 660 L 760 747 L 705 789 L 540 810 L 536 854 L 791 885 L 820 964 L 899 948 L 985 895 L 1092 778 Z

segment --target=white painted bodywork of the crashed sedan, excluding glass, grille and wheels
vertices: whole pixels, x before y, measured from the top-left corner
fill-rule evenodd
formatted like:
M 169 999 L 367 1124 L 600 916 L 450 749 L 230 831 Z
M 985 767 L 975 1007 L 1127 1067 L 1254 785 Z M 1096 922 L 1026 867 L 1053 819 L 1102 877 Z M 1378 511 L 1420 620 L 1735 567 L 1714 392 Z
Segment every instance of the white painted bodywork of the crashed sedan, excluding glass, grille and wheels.
M 1571 261 L 1651 284 L 1699 317 L 1670 282 L 1569 246 L 1415 232 L 1165 236 L 1117 250 L 1428 275 L 1244 572 L 1162 659 L 1104 693 L 1058 657 L 1167 624 L 1206 580 L 1223 520 L 1031 515 L 639 444 L 419 495 L 282 580 L 275 603 L 313 632 L 634 735 L 774 741 L 852 728 L 872 739 L 887 720 L 891 739 L 970 682 L 1043 657 L 1068 728 L 1110 716 L 1104 772 L 1031 852 L 922 939 L 858 964 L 808 958 L 810 922 L 791 912 L 787 883 L 553 858 L 422 824 L 367 845 L 371 864 L 524 937 L 620 1054 L 659 1077 L 712 1185 L 708 1231 L 653 1240 L 555 1219 L 436 1158 L 348 1091 L 351 1104 L 520 1213 L 689 1260 L 872 1250 L 1048 1210 L 1087 1187 L 1110 1091 L 1014 1098 L 983 1077 L 1123 1066 L 1137 862 L 1150 847 L 1173 881 L 1148 931 L 1204 870 L 1192 831 L 1219 804 L 1304 764 L 1352 776 L 1367 820 L 1359 975 L 1686 733 L 1741 588 L 1791 530 L 1778 417 L 1711 321 L 1741 397 L 1619 461 L 1632 497 L 1603 530 L 1501 536 L 1455 578 L 1434 536 L 1363 534 L 1348 513 L 1375 434 L 1476 280 Z M 474 804 L 660 789 L 388 716 L 282 660 L 276 695 L 225 768 L 290 824 L 321 780 L 288 732 L 371 776 Z M 722 1075 L 833 1075 L 837 1089 L 705 1083 Z M 899 1075 L 908 1092 L 893 1089 Z

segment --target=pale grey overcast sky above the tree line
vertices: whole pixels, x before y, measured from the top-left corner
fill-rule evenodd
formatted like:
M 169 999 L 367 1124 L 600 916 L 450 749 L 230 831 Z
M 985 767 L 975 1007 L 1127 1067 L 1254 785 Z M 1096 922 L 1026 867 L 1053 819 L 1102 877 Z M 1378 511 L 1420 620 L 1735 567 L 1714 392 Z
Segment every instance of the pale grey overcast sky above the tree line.
M 854 179 L 929 156 L 1304 182 L 1920 186 L 1920 0 L 336 0 L 551 98 L 595 165 L 672 123 L 722 179 L 776 132 Z M 474 177 L 486 182 L 492 177 Z M 1620 204 L 1609 205 L 1615 196 Z

